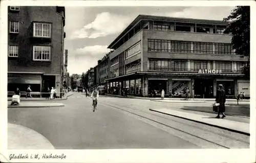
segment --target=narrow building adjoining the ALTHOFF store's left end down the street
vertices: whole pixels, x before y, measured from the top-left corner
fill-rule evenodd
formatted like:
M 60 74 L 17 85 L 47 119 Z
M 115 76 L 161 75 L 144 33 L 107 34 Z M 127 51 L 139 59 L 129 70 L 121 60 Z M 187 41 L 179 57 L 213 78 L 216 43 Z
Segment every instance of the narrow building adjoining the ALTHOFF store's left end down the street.
M 110 54 L 106 54 L 101 60 L 98 60 L 98 64 L 94 67 L 95 85 L 108 89 L 106 79 L 110 76 Z

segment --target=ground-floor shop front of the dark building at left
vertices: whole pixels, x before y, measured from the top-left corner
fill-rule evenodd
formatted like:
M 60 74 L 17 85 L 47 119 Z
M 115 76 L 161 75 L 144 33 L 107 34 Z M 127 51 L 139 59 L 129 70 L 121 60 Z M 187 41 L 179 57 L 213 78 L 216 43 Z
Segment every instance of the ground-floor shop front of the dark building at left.
M 42 73 L 8 73 L 8 91 L 27 91 L 28 86 L 32 92 L 47 92 L 48 88 L 56 88 L 57 96 L 62 91 L 60 75 L 46 75 Z M 44 95 L 44 94 L 42 94 Z

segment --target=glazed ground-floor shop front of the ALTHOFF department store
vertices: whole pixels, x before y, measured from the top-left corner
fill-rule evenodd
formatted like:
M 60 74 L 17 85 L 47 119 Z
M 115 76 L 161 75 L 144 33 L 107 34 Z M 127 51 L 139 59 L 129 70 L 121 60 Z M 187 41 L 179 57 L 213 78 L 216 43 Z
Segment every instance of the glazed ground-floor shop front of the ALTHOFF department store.
M 215 98 L 217 86 L 222 84 L 227 98 L 236 98 L 240 93 L 246 97 L 250 95 L 250 81 L 243 77 L 142 75 L 120 79 L 109 80 L 109 94 L 159 97 L 164 90 L 166 97 L 188 93 L 190 98 Z

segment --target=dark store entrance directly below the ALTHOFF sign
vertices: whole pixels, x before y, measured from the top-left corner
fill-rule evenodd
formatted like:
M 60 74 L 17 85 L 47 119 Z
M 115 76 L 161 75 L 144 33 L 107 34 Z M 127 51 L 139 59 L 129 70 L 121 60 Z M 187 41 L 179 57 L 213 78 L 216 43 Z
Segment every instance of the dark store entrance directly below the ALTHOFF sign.
M 194 82 L 195 98 L 214 98 L 213 79 L 195 79 Z

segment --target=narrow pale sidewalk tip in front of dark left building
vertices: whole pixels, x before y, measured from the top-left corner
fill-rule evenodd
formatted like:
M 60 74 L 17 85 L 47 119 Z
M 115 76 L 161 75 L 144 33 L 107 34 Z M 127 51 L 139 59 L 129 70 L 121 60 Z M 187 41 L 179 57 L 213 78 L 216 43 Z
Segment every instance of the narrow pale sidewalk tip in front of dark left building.
M 20 102 L 19 105 L 11 105 L 11 101 L 8 101 L 8 108 L 35 108 L 35 107 L 62 107 L 65 106 L 61 103 L 50 102 Z

